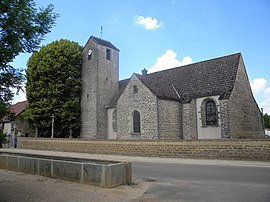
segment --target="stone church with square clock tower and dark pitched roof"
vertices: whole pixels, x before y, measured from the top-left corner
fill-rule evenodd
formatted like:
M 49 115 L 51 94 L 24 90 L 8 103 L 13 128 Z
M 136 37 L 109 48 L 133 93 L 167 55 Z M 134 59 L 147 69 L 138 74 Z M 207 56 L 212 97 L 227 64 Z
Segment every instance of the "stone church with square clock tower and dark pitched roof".
M 262 114 L 240 53 L 119 81 L 119 49 L 91 36 L 83 49 L 81 137 L 262 138 Z

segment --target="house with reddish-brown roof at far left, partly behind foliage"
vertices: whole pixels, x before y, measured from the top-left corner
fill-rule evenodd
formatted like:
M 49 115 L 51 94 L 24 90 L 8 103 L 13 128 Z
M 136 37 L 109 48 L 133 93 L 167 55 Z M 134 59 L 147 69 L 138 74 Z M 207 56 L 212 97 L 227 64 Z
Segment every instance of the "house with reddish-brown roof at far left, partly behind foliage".
M 10 105 L 8 110 L 12 113 L 12 118 L 11 116 L 6 116 L 2 120 L 3 132 L 8 137 L 9 147 L 16 147 L 17 137 L 19 136 L 33 136 L 33 132 L 22 117 L 25 107 L 26 101 Z

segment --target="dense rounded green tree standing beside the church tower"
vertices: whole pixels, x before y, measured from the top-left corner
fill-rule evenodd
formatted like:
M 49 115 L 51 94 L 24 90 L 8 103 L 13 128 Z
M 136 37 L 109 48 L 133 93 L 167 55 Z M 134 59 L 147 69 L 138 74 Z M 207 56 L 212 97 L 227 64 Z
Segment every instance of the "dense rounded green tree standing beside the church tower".
M 80 127 L 82 47 L 59 40 L 35 52 L 27 63 L 26 119 L 44 137 L 51 135 L 52 114 L 56 116 L 55 137 L 74 136 Z

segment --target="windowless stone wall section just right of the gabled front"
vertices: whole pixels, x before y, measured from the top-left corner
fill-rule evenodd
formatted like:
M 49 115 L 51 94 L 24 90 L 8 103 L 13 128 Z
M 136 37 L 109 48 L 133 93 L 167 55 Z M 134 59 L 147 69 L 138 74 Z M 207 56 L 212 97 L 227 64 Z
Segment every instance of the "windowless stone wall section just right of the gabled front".
M 182 117 L 180 103 L 158 100 L 159 139 L 180 139 L 182 137 Z

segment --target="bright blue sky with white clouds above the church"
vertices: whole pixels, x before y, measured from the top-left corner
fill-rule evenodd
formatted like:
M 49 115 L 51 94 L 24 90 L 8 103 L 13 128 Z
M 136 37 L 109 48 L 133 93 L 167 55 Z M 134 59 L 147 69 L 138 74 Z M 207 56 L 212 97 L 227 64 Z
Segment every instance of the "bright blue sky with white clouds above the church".
M 120 79 L 241 52 L 254 97 L 270 114 L 270 0 L 35 0 L 60 15 L 41 45 L 90 36 L 120 49 Z M 101 33 L 101 26 L 103 31 Z M 13 65 L 26 69 L 30 54 Z M 13 103 L 25 100 L 16 96 Z

